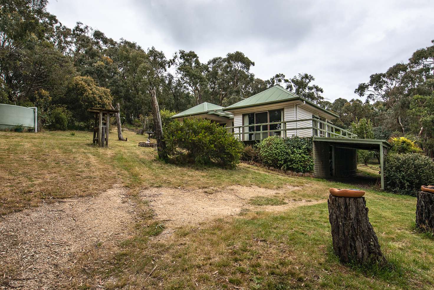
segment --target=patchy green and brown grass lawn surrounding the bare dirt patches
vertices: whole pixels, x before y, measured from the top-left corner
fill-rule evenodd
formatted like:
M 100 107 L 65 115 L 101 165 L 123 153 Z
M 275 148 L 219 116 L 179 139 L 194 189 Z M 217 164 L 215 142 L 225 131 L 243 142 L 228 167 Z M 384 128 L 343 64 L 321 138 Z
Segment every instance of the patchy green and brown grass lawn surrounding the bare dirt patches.
M 414 228 L 416 199 L 367 189 L 369 218 L 388 268 L 342 265 L 332 252 L 326 199 L 329 187 L 351 188 L 304 177 L 288 177 L 240 164 L 235 170 L 179 167 L 138 147 L 146 137 L 111 133 L 110 147 L 92 147 L 87 132 L 0 132 L 0 214 L 58 198 L 93 195 L 115 183 L 129 187 L 142 207 L 135 235 L 118 250 L 92 249 L 69 269 L 80 289 L 432 289 L 434 238 Z M 255 185 L 279 189 L 286 199 L 323 200 L 284 212 L 243 212 L 238 216 L 164 230 L 146 200 L 146 187 L 224 188 Z M 217 193 L 215 193 L 217 194 Z M 281 197 L 255 197 L 255 205 L 279 205 Z M 115 282 L 113 282 L 113 280 Z M 110 281 L 105 283 L 105 281 Z

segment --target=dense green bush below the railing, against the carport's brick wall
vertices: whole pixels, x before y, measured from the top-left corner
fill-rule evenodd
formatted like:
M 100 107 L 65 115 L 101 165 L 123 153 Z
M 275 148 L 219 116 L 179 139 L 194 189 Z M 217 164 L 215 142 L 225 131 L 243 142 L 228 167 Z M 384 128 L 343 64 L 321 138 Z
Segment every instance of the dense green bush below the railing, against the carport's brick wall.
M 258 150 L 266 166 L 297 172 L 313 170 L 312 138 L 271 136 L 258 144 Z

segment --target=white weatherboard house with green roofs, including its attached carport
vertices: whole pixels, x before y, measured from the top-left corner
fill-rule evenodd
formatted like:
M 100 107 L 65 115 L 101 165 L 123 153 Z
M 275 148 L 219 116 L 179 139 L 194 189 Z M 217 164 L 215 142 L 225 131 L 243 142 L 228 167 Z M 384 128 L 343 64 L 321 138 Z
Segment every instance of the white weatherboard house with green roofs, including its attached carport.
M 313 137 L 314 175 L 349 176 L 356 173 L 357 149 L 380 153 L 381 167 L 390 143 L 357 139 L 357 135 L 333 125 L 339 116 L 315 103 L 274 86 L 228 107 L 201 103 L 172 118 L 204 118 L 227 127 L 228 133 L 245 143 L 266 137 Z M 381 187 L 384 173 L 381 171 Z

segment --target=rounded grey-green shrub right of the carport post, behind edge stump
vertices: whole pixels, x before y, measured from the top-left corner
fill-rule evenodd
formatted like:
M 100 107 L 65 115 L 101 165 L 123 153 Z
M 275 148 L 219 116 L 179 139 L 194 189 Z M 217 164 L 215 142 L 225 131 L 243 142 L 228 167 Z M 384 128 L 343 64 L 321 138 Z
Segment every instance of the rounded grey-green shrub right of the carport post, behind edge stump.
M 384 173 L 386 190 L 415 195 L 421 185 L 434 183 L 434 161 L 418 153 L 390 153 Z

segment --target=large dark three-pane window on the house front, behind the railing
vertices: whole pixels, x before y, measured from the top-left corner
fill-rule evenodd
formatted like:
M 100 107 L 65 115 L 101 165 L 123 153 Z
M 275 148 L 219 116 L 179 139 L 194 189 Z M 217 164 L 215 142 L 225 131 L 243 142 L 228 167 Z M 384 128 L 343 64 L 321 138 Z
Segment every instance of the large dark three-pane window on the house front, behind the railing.
M 282 129 L 282 123 L 271 124 L 271 125 L 255 125 L 263 123 L 273 123 L 281 122 L 283 110 L 270 110 L 257 113 L 249 113 L 243 115 L 243 124 L 252 125 L 249 127 L 243 127 L 244 140 L 262 140 L 268 136 L 281 135 L 282 131 L 275 132 L 263 132 L 263 133 L 253 133 L 258 131 L 268 131 L 268 130 L 280 130 Z M 249 133 L 252 132 L 252 133 Z

